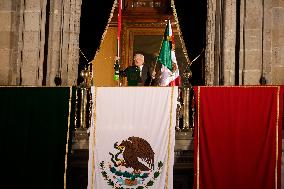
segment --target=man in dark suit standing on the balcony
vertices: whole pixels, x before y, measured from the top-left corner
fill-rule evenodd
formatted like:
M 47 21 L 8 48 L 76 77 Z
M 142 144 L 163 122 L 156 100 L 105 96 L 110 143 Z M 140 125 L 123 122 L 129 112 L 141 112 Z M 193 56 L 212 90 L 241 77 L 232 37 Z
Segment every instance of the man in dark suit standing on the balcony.
M 128 86 L 150 86 L 154 84 L 155 72 L 148 64 L 144 64 L 144 55 L 134 55 L 134 65 L 121 72 L 121 76 L 127 77 Z

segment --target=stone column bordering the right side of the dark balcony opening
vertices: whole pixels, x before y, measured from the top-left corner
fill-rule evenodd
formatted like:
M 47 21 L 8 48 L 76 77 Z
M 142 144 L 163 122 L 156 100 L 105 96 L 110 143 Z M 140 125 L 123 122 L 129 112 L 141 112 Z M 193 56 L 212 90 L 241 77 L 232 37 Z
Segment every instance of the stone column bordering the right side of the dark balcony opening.
M 224 72 L 224 85 L 234 83 L 236 0 L 223 3 L 221 7 L 217 0 L 207 1 L 206 85 L 218 85 L 220 69 Z

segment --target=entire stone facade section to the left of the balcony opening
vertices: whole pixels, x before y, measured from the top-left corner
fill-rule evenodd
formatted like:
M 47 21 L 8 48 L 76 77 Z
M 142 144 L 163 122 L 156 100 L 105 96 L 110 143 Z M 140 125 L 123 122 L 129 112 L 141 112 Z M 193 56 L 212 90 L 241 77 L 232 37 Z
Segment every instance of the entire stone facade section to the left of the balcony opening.
M 75 85 L 82 0 L 0 0 L 0 85 Z

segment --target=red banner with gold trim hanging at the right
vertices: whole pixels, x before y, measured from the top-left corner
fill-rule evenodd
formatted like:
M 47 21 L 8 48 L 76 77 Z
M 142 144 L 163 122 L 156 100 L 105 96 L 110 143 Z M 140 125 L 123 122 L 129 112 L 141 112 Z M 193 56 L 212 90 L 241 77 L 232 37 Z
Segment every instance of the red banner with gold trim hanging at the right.
M 195 87 L 198 189 L 279 189 L 283 89 Z

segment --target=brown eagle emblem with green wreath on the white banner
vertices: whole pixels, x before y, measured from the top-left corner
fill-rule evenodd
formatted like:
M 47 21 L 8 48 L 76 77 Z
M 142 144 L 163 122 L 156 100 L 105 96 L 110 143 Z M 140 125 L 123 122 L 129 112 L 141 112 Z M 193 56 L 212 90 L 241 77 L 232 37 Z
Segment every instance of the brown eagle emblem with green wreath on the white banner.
M 143 189 L 154 185 L 162 171 L 163 163 L 157 163 L 155 153 L 145 139 L 129 137 L 114 143 L 115 152 L 109 152 L 110 161 L 100 162 L 101 175 L 115 189 Z

